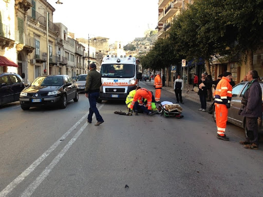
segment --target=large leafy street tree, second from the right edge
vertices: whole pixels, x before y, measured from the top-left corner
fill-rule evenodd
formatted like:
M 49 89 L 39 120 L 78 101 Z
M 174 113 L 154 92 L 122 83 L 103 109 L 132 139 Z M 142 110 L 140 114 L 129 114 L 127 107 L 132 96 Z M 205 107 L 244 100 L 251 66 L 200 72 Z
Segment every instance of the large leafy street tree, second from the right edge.
M 222 11 L 226 0 L 197 0 L 174 20 L 170 36 L 176 39 L 176 49 L 186 60 L 205 60 L 211 74 L 212 56 L 228 54 L 228 36 L 225 34 Z

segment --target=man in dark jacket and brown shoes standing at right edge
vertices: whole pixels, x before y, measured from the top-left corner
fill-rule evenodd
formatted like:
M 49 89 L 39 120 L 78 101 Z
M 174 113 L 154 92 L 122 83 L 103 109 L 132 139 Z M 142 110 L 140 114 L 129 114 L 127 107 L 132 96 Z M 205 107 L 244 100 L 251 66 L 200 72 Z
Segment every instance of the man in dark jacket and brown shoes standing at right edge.
M 248 87 L 242 99 L 243 110 L 241 115 L 246 118 L 246 141 L 239 143 L 247 149 L 258 149 L 257 119 L 262 116 L 262 91 L 258 83 L 258 73 L 250 70 L 247 74 Z

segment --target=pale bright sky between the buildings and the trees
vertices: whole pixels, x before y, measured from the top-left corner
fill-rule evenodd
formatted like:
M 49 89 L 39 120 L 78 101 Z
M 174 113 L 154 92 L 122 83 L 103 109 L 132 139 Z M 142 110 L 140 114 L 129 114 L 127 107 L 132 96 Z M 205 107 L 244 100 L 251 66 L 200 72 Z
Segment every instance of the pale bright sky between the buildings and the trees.
M 107 37 L 109 43 L 132 42 L 158 24 L 158 0 L 60 0 L 48 3 L 55 8 L 53 23 L 62 23 L 75 38 Z

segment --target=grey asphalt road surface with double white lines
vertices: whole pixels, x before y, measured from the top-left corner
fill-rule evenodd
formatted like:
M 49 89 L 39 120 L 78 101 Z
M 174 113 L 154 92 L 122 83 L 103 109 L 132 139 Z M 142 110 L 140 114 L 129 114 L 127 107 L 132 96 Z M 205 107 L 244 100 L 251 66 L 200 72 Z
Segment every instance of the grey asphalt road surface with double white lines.
M 66 109 L 1 107 L 0 196 L 263 196 L 262 141 L 242 148 L 232 124 L 230 141 L 217 140 L 212 115 L 183 101 L 182 119 L 114 114 L 124 102 L 103 102 L 100 126 L 87 124 L 84 94 Z

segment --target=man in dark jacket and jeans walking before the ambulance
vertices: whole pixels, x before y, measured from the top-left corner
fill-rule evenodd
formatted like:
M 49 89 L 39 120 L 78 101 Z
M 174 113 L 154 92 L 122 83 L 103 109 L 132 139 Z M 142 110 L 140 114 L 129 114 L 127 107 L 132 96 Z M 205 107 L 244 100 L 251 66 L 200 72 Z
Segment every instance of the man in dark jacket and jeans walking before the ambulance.
M 87 74 L 86 78 L 86 87 L 85 87 L 85 96 L 89 101 L 89 114 L 88 114 L 88 123 L 92 121 L 92 115 L 95 113 L 97 123 L 95 126 L 99 126 L 104 122 L 102 116 L 100 115 L 99 110 L 97 109 L 97 99 L 100 95 L 101 83 L 101 74 L 96 70 L 96 64 L 89 65 L 90 71 Z

